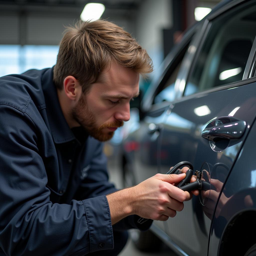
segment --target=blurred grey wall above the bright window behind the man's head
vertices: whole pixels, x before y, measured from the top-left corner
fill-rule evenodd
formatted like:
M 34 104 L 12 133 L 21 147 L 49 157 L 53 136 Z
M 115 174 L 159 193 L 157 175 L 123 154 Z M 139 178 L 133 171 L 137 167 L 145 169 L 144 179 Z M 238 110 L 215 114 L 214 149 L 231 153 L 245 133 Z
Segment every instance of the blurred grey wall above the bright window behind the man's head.
M 0 44 L 58 45 L 65 26 L 80 17 L 81 7 L 0 5 Z M 106 10 L 108 18 L 134 34 L 133 11 Z

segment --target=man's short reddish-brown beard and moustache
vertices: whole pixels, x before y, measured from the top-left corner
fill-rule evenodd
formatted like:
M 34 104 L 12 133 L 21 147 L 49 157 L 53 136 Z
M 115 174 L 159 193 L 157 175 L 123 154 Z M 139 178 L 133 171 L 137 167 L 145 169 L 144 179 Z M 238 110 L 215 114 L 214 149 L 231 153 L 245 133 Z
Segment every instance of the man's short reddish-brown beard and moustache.
M 124 122 L 116 120 L 111 123 L 104 123 L 100 126 L 96 125 L 96 116 L 93 112 L 91 112 L 88 108 L 87 103 L 85 102 L 86 97 L 81 95 L 79 101 L 72 109 L 72 117 L 76 120 L 87 132 L 90 136 L 94 137 L 99 141 L 108 141 L 110 140 L 114 132 L 104 133 L 102 131 L 103 128 L 108 127 L 120 127 L 123 126 Z

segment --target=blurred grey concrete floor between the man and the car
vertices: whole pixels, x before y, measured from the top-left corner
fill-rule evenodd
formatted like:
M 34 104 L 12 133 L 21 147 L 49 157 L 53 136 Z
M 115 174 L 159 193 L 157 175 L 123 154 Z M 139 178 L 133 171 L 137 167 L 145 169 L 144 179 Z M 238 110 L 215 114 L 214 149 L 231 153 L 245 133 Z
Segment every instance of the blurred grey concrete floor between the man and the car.
M 119 168 L 118 163 L 114 161 L 108 162 L 108 170 L 109 170 L 109 178 L 110 182 L 114 183 L 116 188 L 122 188 L 121 182 L 121 170 Z M 160 252 L 150 253 L 150 252 L 141 252 L 134 246 L 131 239 L 128 240 L 126 246 L 119 254 L 119 256 L 177 256 L 172 250 L 170 250 L 167 246 L 163 245 L 163 248 Z

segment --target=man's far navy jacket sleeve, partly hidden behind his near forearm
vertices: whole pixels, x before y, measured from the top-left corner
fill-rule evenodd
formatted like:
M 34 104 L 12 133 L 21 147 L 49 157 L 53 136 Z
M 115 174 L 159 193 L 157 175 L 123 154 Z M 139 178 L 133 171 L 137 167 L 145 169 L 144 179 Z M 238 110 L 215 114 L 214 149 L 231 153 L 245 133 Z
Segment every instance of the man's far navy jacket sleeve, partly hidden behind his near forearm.
M 87 176 L 81 183 L 75 195 L 77 200 L 108 195 L 118 190 L 109 182 L 107 158 L 103 153 L 102 148 L 103 144 L 98 142 L 90 162 L 90 169 L 88 170 Z M 139 224 L 137 222 L 139 218 L 140 216 L 138 215 L 130 215 L 113 225 L 113 229 L 118 231 L 132 228 L 140 229 L 142 231 L 149 229 L 153 221 L 148 220 L 143 224 Z

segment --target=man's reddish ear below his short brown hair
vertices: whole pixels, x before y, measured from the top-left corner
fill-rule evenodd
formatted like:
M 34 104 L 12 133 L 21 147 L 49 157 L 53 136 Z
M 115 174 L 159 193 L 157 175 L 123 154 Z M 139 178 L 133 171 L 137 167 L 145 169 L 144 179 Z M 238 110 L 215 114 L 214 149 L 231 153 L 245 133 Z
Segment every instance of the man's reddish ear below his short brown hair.
M 64 79 L 63 89 L 70 100 L 78 100 L 80 98 L 81 86 L 73 76 L 67 76 Z

